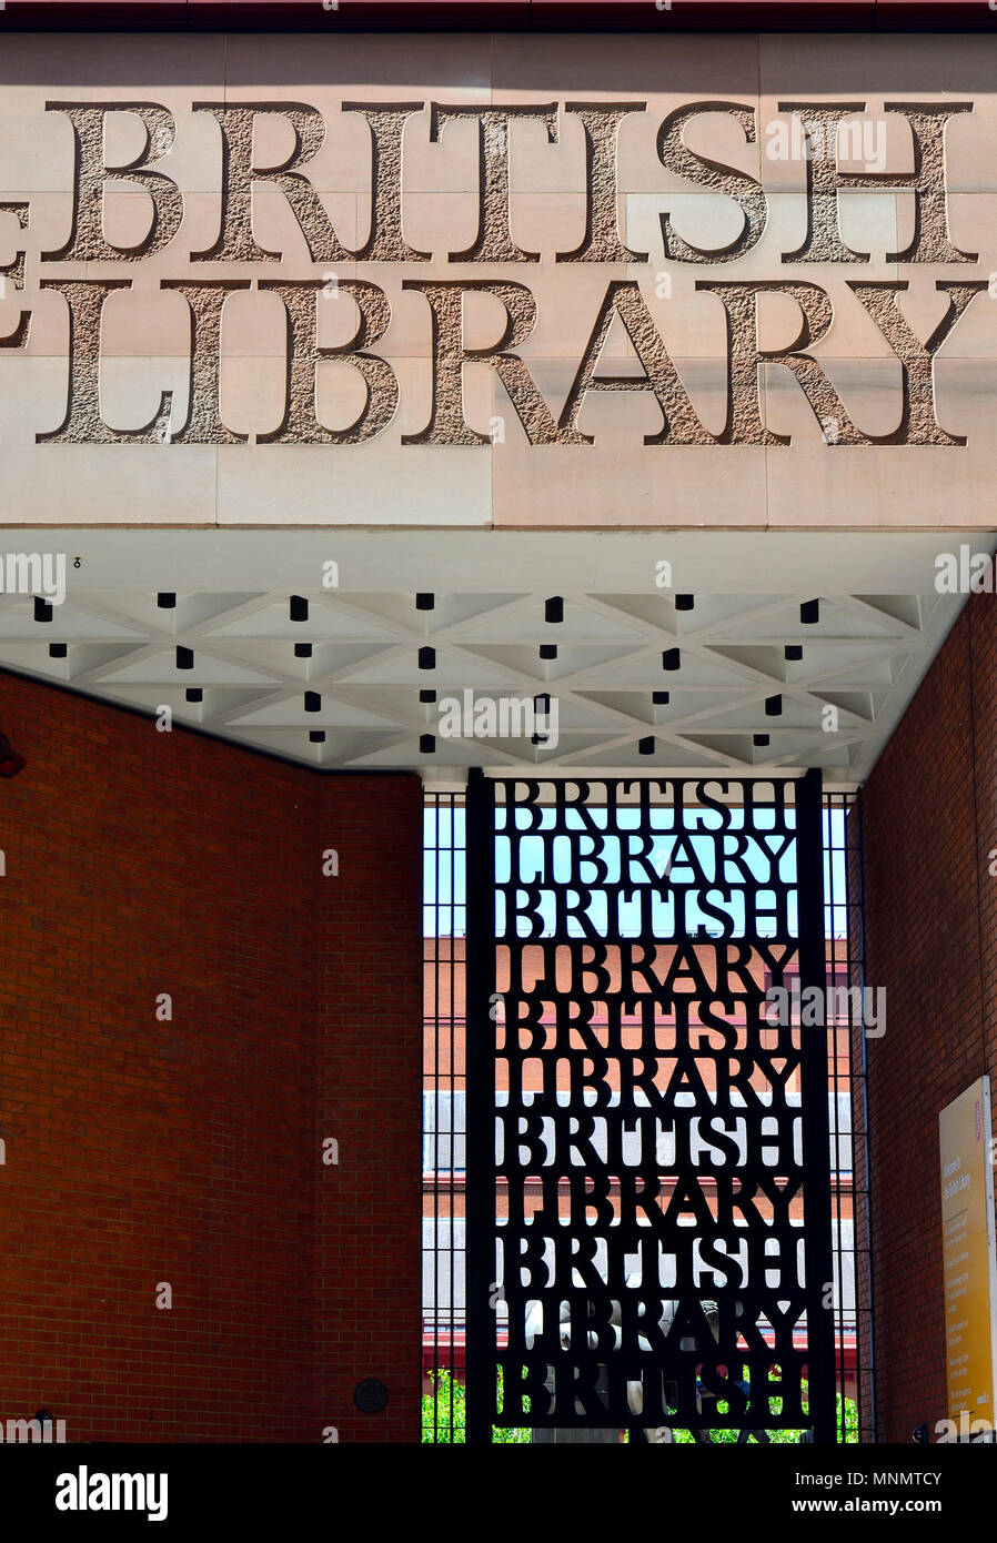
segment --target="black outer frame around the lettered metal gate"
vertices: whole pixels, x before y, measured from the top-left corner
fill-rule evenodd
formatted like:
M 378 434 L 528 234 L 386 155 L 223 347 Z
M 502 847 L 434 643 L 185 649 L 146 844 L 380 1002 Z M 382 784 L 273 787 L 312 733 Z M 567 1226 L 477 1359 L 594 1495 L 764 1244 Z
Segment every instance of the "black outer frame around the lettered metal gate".
M 551 775 L 537 772 L 536 778 L 511 776 L 503 779 L 508 787 L 517 782 L 537 781 L 549 784 Z M 826 989 L 826 943 L 824 943 L 824 896 L 823 896 L 823 798 L 820 770 L 803 778 L 772 776 L 722 776 L 693 778 L 566 778 L 573 782 L 594 782 L 597 787 L 634 788 L 640 781 L 648 785 L 667 784 L 671 788 L 702 788 L 704 784 L 719 787 L 724 793 L 730 784 L 781 782 L 792 784 L 796 829 L 796 915 L 798 915 L 798 967 L 801 994 L 816 986 Z M 466 881 L 468 881 L 468 995 L 466 995 L 466 1072 L 468 1072 L 468 1136 L 466 1136 L 466 1242 L 468 1242 L 468 1291 L 466 1291 L 466 1440 L 468 1443 L 491 1443 L 494 1423 L 494 1396 L 497 1375 L 497 1316 L 495 1316 L 495 1023 L 492 1003 L 497 992 L 495 975 L 495 787 L 498 784 L 472 770 L 466 798 Z M 546 940 L 549 941 L 549 940 Z M 553 941 L 568 941 L 566 937 Z M 640 941 L 640 940 L 636 940 Z M 648 940 L 653 941 L 653 940 Z M 695 941 L 678 932 L 673 940 Z M 821 998 L 826 1000 L 826 998 Z M 835 1336 L 833 1305 L 830 1301 L 833 1279 L 832 1267 L 832 1185 L 830 1185 L 830 1131 L 827 1111 L 827 1034 L 826 1031 L 801 1034 L 799 1042 L 799 1091 L 801 1091 L 801 1193 L 806 1208 L 804 1273 L 807 1315 L 807 1381 L 809 1410 L 813 1441 L 833 1444 L 836 1440 L 835 1400 Z M 580 1295 L 586 1288 L 579 1288 Z M 690 1324 L 690 1327 L 695 1327 Z M 633 1324 L 631 1324 L 633 1329 Z M 588 1336 L 586 1336 L 588 1338 Z M 699 1341 L 696 1341 L 699 1344 Z M 597 1352 L 594 1352 L 597 1353 Z M 576 1352 L 574 1359 L 583 1359 L 585 1352 Z M 617 1409 L 619 1413 L 619 1409 Z M 607 1418 L 586 1418 L 562 1410 L 557 1423 L 591 1429 L 614 1423 Z M 620 1424 L 627 1421 L 620 1420 Z M 662 1423 L 650 1421 L 634 1424 Z M 665 1421 L 668 1423 L 668 1421 Z M 695 1424 L 688 1418 L 674 1418 L 674 1426 Z M 745 1421 L 749 1423 L 749 1421 Z M 789 1429 L 799 1421 L 778 1416 L 769 1421 L 750 1421 L 755 1427 Z M 718 1420 L 704 1415 L 699 1426 L 715 1427 L 738 1424 L 732 1418 Z

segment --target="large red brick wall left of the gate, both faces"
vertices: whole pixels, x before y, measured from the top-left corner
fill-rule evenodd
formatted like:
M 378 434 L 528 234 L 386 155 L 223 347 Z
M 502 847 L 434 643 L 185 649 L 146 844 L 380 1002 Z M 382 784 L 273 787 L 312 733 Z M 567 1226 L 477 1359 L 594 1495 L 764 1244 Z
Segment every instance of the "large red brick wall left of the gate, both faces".
M 0 782 L 0 1416 L 417 1440 L 418 779 L 11 676 L 0 728 L 28 756 Z

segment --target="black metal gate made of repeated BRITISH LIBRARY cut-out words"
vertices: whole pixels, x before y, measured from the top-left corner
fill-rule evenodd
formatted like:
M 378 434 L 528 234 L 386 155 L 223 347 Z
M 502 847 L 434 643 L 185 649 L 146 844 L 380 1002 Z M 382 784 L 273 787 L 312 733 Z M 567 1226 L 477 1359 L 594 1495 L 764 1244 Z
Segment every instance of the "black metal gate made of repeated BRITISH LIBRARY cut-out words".
M 469 1441 L 835 1440 L 824 988 L 818 772 L 472 775 Z

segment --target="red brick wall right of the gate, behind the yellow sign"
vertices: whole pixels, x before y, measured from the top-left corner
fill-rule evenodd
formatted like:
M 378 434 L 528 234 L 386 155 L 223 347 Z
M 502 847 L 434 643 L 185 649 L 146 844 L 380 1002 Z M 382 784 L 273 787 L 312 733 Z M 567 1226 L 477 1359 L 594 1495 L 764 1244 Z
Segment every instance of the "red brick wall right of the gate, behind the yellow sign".
M 880 1440 L 946 1410 L 938 1111 L 997 1077 L 997 603 L 975 596 L 863 792 Z

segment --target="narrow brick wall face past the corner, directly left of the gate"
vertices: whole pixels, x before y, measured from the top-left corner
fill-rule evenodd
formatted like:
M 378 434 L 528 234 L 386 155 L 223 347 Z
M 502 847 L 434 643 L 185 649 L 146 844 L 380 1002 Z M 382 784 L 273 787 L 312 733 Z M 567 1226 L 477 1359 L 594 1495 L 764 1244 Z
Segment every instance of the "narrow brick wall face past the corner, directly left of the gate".
M 415 776 L 326 781 L 321 846 L 340 852 L 318 907 L 315 1254 L 321 1424 L 343 1441 L 418 1440 L 423 1214 L 423 788 Z M 401 839 L 400 839 L 401 836 Z M 343 957 L 350 961 L 341 967 Z M 358 1381 L 387 1384 L 381 1415 Z

